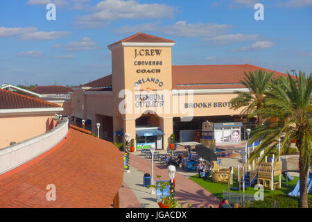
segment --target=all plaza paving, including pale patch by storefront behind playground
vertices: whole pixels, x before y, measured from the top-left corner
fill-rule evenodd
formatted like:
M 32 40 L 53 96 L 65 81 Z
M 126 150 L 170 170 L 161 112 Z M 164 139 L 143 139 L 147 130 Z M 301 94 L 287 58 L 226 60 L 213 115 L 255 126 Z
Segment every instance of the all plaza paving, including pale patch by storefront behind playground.
M 218 146 L 220 148 L 220 146 Z M 239 162 L 239 152 L 244 149 L 242 144 L 237 146 L 222 146 L 222 148 L 233 149 L 233 155 L 221 158 L 221 167 L 235 167 Z M 178 150 L 184 150 L 180 147 Z M 159 150 L 160 154 L 166 154 L 166 150 Z M 151 188 L 147 189 L 143 186 L 144 173 L 151 175 L 151 158 L 140 155 L 140 152 L 130 153 L 130 173 L 123 174 L 123 186 L 119 189 L 121 198 L 121 207 L 141 207 L 141 208 L 158 208 L 156 203 L 156 195 L 150 194 Z M 197 172 L 184 171 L 181 167 L 177 167 L 175 173 L 176 187 L 175 197 L 182 203 L 183 207 L 187 207 L 191 203 L 191 207 L 218 207 L 220 200 L 206 189 L 200 187 L 196 182 L 189 180 L 190 176 Z M 162 180 L 168 180 L 168 170 L 159 160 L 154 161 L 154 181 L 156 175 L 162 176 Z

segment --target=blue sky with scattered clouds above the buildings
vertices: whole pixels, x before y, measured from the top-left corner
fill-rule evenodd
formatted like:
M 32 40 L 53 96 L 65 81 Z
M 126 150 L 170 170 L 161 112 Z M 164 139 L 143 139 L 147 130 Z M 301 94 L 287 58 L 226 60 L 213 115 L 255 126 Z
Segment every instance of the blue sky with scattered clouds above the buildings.
M 56 20 L 46 19 L 46 5 Z M 254 5 L 264 20 L 254 19 Z M 173 65 L 312 71 L 312 0 L 1 0 L 0 84 L 78 85 L 111 73 L 107 45 L 175 40 Z

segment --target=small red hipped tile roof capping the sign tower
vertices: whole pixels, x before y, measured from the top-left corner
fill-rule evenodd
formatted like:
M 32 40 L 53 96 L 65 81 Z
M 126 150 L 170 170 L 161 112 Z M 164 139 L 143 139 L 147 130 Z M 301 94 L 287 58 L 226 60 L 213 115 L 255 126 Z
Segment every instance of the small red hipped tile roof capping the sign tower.
M 167 40 L 162 37 L 157 37 L 154 35 L 148 35 L 145 33 L 137 33 L 135 35 L 131 35 L 130 37 L 126 37 L 123 40 L 119 40 L 118 42 L 114 42 L 113 44 L 108 45 L 107 47 L 113 46 L 115 44 L 119 44 L 121 42 L 175 42 L 173 40 Z

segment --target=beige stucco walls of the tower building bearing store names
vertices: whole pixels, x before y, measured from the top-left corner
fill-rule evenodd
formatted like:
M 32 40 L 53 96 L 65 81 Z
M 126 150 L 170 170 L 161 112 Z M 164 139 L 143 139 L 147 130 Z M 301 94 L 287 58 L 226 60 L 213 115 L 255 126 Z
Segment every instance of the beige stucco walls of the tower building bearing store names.
M 155 53 L 155 51 L 158 53 Z M 142 51 L 143 54 L 139 55 Z M 148 52 L 149 55 L 146 56 Z M 153 51 L 153 53 L 152 53 Z M 153 54 L 153 55 L 151 55 Z M 138 65 L 138 62 L 152 62 Z M 162 62 L 162 65 L 153 65 Z M 145 70 L 142 73 L 142 70 Z M 231 110 L 229 101 L 236 94 L 194 94 L 180 100 L 178 95 L 172 95 L 172 64 L 171 46 L 119 46 L 112 49 L 112 94 L 101 92 L 83 94 L 83 90 L 75 90 L 72 95 L 73 115 L 84 119 L 98 121 L 97 114 L 113 117 L 113 131 L 123 128 L 123 133 L 130 133 L 135 138 L 135 119 L 151 110 L 155 114 L 150 118 L 151 126 L 158 126 L 165 133 L 164 148 L 168 146 L 168 138 L 173 133 L 173 117 L 205 117 L 238 115 L 239 110 Z M 139 71 L 137 71 L 139 70 Z M 148 73 L 148 71 L 150 73 Z M 154 82 L 152 81 L 154 78 Z M 159 83 L 155 83 L 158 80 Z M 141 82 L 140 82 L 141 81 Z M 125 96 L 120 92 L 125 89 Z M 127 94 L 128 92 L 130 94 Z M 140 102 L 136 94 L 159 94 L 164 96 L 164 105 L 157 108 L 136 108 Z M 127 105 L 125 104 L 125 101 Z M 185 103 L 205 103 L 207 107 L 186 108 Z M 209 105 L 210 104 L 210 105 Z M 119 112 L 125 108 L 125 113 Z M 95 125 L 94 125 L 95 126 Z

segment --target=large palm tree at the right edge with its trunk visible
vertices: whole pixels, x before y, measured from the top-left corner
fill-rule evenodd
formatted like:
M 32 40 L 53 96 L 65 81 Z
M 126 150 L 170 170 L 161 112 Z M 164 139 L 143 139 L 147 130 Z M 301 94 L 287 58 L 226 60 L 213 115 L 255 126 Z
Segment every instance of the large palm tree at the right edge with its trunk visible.
M 265 155 L 277 146 L 281 137 L 281 153 L 287 153 L 291 143 L 295 140 L 298 148 L 300 173 L 300 207 L 308 207 L 307 173 L 311 165 L 311 90 L 312 73 L 309 78 L 300 71 L 299 77 L 281 78 L 279 84 L 271 84 L 271 91 L 266 93 L 266 104 L 261 110 L 252 115 L 265 117 L 263 125 L 257 126 L 250 133 L 250 144 L 260 138 L 259 147 L 252 153 L 250 160 L 259 156 L 261 151 Z M 277 119 L 273 123 L 270 119 Z M 263 155 L 263 157 L 265 156 Z M 262 159 L 263 159 L 262 157 Z

